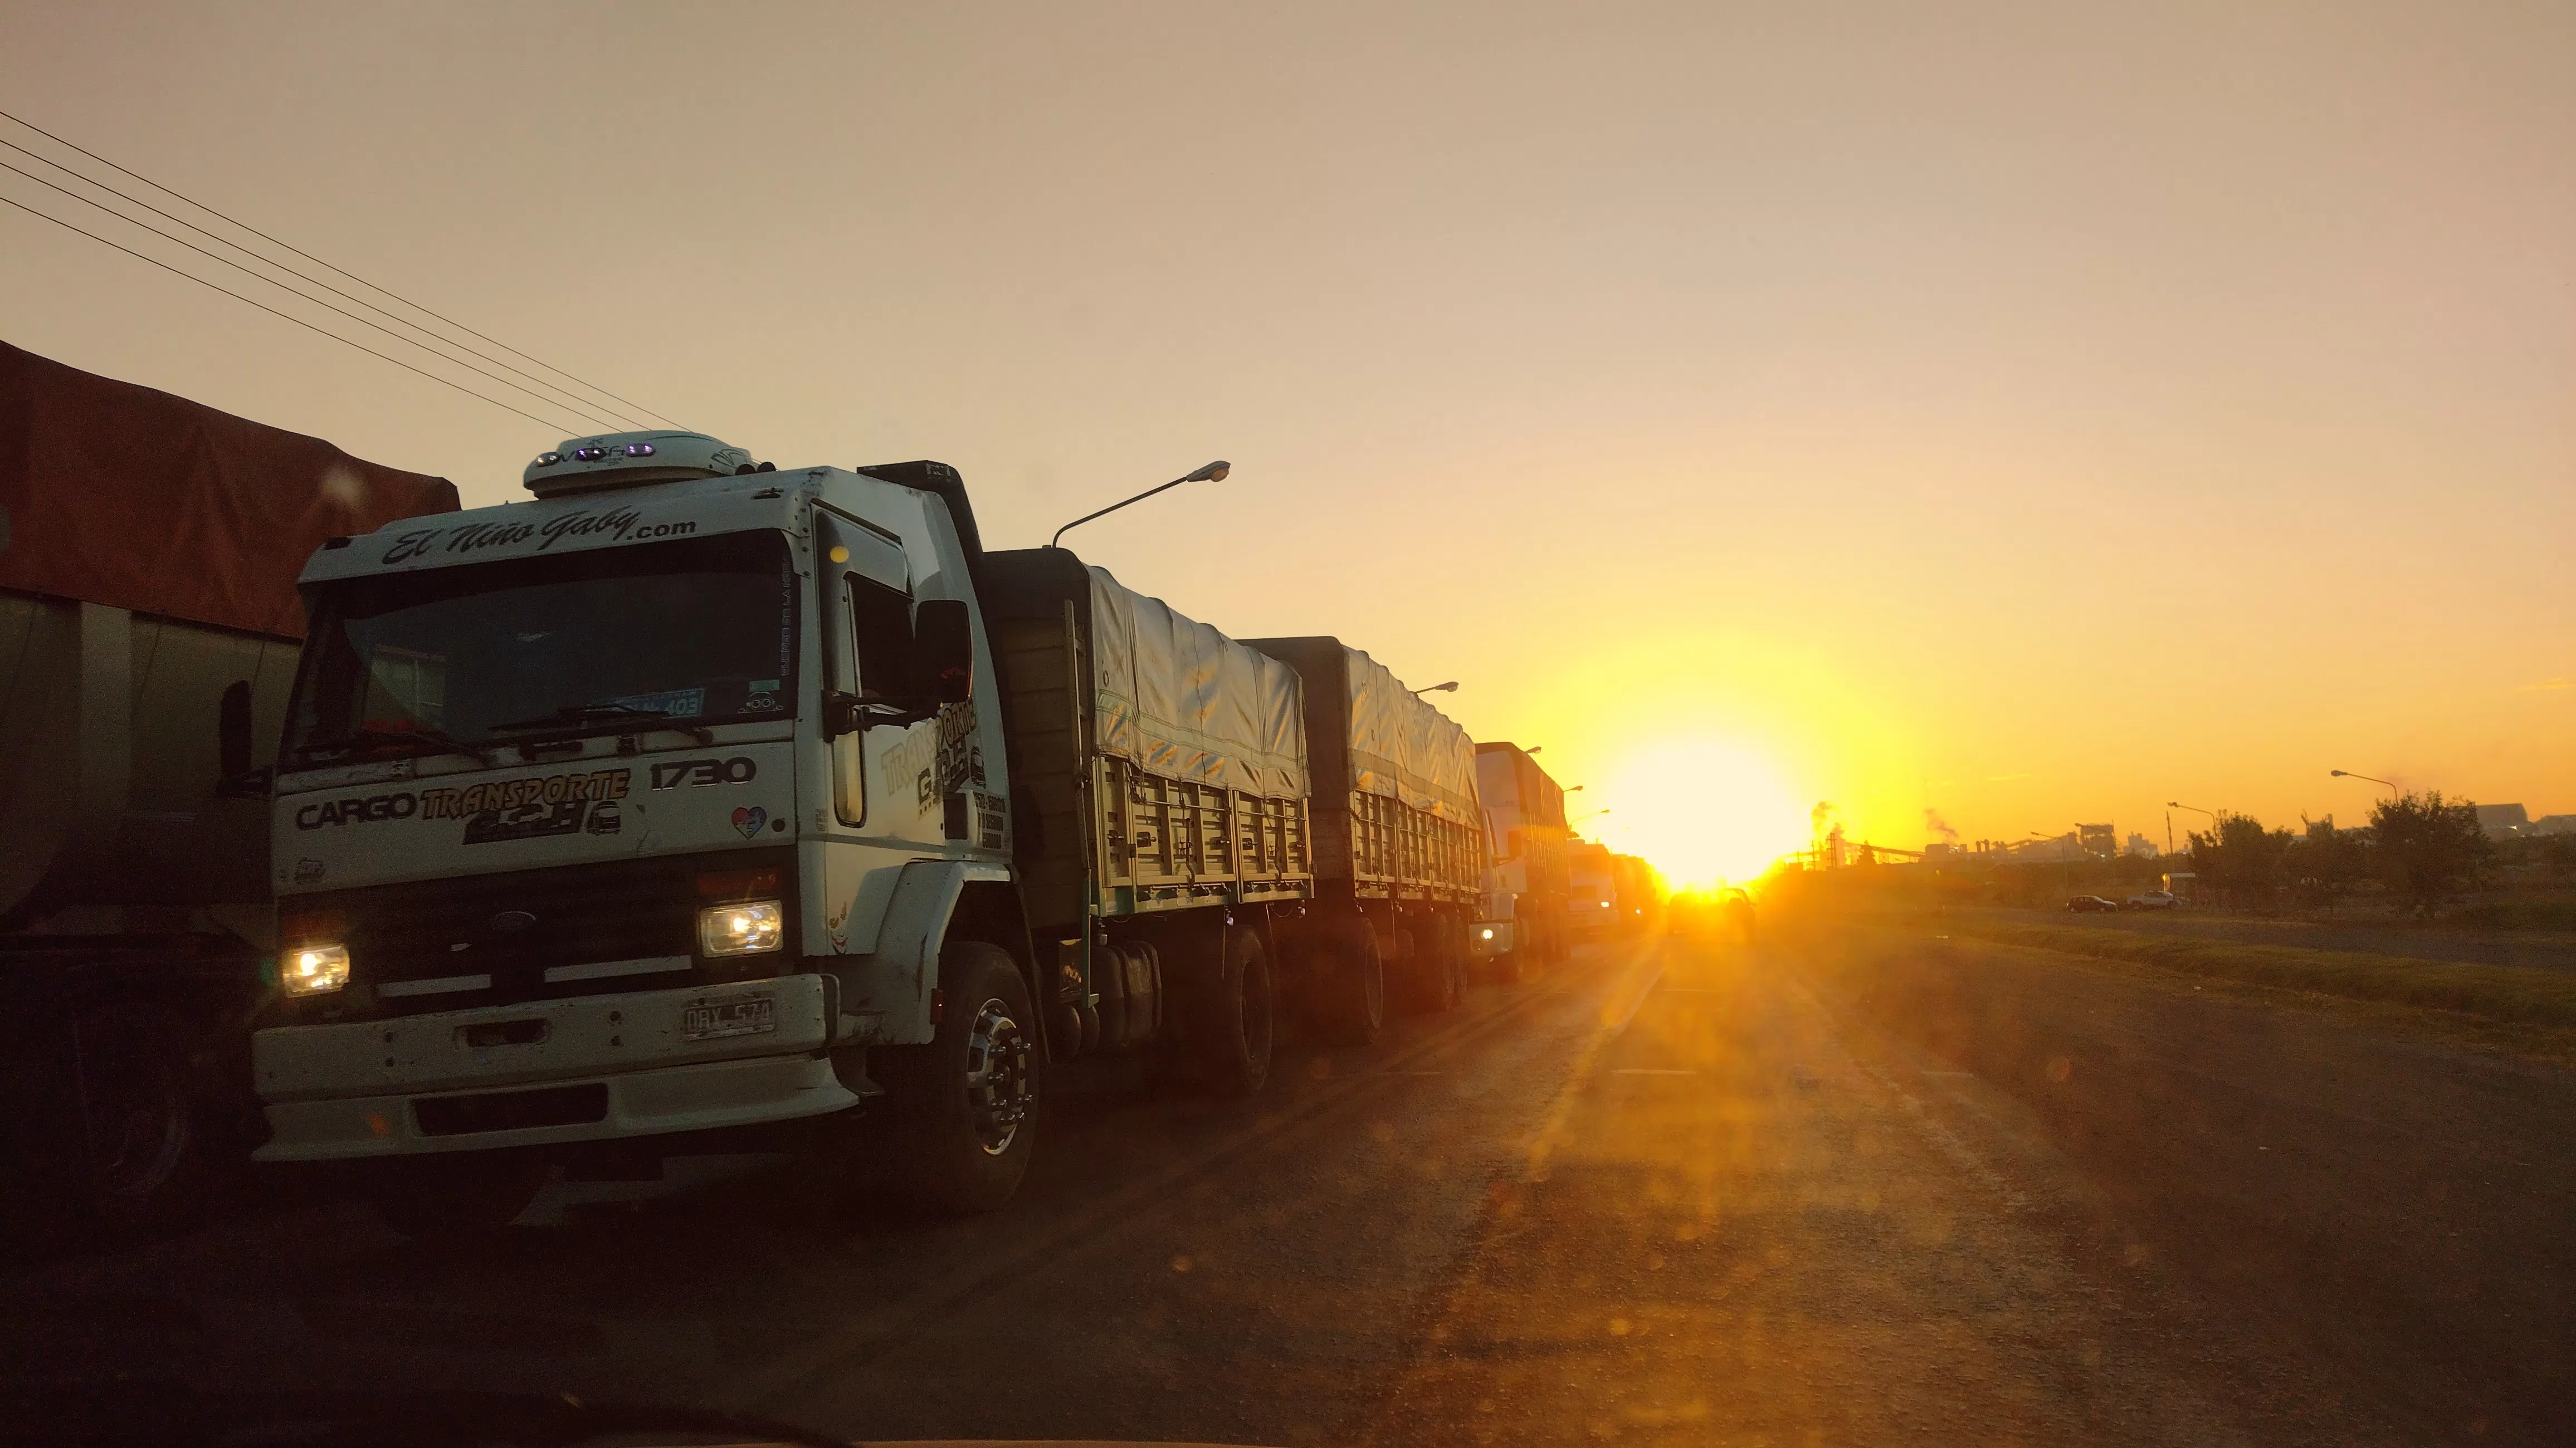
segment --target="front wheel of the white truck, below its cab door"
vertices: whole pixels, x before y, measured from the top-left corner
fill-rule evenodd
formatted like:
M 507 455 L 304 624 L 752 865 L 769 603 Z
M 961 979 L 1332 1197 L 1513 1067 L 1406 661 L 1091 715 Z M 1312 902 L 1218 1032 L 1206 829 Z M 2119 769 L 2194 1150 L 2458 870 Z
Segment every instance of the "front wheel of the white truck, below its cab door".
M 1020 1190 L 1038 1136 L 1038 1015 L 999 946 L 940 946 L 940 1023 L 927 1046 L 873 1051 L 894 1095 L 904 1196 L 951 1214 Z

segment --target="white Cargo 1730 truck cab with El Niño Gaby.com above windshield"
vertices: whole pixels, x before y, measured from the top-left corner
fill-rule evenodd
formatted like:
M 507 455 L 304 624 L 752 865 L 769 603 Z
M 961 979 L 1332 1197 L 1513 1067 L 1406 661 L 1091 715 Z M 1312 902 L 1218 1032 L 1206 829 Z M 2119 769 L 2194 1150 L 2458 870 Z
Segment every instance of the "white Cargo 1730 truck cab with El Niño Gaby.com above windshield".
M 526 484 L 301 575 L 258 1157 L 507 1219 L 909 1085 L 956 1203 L 1007 1196 L 1046 1025 L 956 474 L 621 433 Z

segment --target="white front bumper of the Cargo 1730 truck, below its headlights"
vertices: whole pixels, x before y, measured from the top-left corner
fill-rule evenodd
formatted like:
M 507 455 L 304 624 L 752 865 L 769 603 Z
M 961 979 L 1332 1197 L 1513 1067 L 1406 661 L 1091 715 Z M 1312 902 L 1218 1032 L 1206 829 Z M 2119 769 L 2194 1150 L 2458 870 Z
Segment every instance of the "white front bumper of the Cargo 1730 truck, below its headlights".
M 824 1054 L 827 976 L 585 995 L 250 1041 L 268 1108 L 260 1162 L 325 1162 L 662 1136 L 858 1105 Z M 690 1010 L 768 1025 L 690 1041 Z

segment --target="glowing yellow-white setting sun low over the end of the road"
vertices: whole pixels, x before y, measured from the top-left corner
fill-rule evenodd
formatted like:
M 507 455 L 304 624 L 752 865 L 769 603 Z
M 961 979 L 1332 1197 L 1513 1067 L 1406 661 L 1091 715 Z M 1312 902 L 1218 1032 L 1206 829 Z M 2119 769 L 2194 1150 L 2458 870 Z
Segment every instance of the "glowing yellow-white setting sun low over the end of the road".
M 1806 812 L 1777 765 L 1734 739 L 1672 739 L 1631 755 L 1600 837 L 1654 861 L 1674 886 L 1762 873 L 1806 843 Z

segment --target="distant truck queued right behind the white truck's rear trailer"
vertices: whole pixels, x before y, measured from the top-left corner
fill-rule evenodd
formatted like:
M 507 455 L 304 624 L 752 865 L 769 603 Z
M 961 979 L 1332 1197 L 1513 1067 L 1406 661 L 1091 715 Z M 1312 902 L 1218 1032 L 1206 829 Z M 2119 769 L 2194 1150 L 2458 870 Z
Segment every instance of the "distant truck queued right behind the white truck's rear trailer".
M 1476 794 L 1486 879 L 1468 946 L 1479 964 L 1520 979 L 1571 946 L 1566 791 L 1520 745 L 1486 739 L 1476 745 Z

